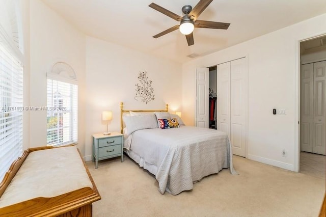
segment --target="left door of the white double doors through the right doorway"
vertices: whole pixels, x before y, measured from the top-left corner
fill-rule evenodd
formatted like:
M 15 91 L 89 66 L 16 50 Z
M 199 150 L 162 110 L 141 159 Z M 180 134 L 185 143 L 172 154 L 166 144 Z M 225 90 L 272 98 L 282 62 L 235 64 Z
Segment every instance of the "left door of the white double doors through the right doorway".
M 300 147 L 312 152 L 313 144 L 313 63 L 301 66 Z

